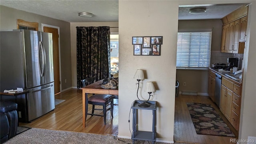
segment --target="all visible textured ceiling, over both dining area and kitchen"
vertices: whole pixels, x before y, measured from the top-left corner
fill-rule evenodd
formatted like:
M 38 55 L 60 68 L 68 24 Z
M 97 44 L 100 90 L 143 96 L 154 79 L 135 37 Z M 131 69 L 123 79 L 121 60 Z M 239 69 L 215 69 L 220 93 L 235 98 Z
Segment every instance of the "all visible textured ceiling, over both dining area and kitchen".
M 0 5 L 64 20 L 66 22 L 118 22 L 118 0 L 0 0 Z M 189 5 L 179 7 L 179 20 L 220 19 L 241 6 Z M 190 14 L 192 7 L 206 7 L 203 14 Z M 78 16 L 90 12 L 92 18 Z

